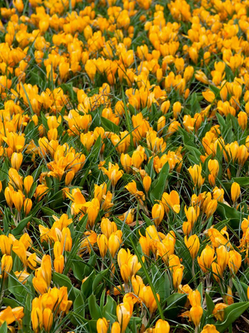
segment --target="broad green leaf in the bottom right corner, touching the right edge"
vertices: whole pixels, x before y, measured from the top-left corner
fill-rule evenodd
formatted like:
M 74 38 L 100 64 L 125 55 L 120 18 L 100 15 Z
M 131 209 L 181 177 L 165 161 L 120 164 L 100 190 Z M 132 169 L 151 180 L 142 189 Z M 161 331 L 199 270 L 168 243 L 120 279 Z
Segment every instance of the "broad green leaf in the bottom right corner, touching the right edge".
M 224 322 L 217 322 L 216 329 L 219 332 L 224 332 L 233 322 L 240 317 L 245 310 L 249 307 L 249 302 L 233 303 L 226 307 L 224 310 L 225 320 Z

